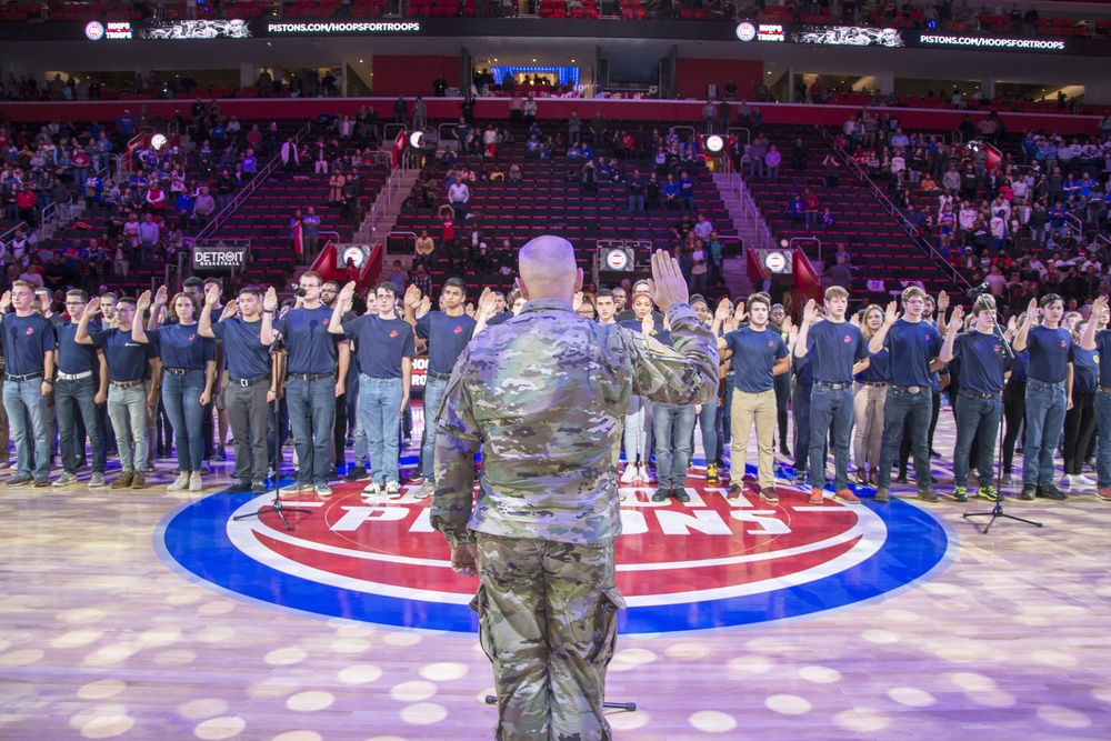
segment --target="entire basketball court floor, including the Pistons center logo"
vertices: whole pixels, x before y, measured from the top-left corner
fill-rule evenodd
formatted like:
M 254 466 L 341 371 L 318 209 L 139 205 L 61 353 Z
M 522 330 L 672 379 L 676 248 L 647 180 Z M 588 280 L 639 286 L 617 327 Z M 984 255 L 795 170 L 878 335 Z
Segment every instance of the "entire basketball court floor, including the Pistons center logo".
M 952 415 L 933 461 L 952 491 Z M 404 451 L 407 463 L 413 451 Z M 350 455 L 350 453 L 349 453 Z M 1111 504 L 624 490 L 621 741 L 1111 738 Z M 287 450 L 287 460 L 289 451 Z M 750 468 L 755 461 L 750 443 Z M 428 500 L 0 487 L 0 739 L 471 741 L 490 664 Z M 832 470 L 832 464 L 830 465 Z M 0 481 L 13 475 L 6 471 Z M 88 481 L 88 471 L 82 481 Z M 109 478 L 113 478 L 109 471 Z M 903 498 L 898 498 L 902 494 Z M 982 518 L 980 521 L 982 522 Z

